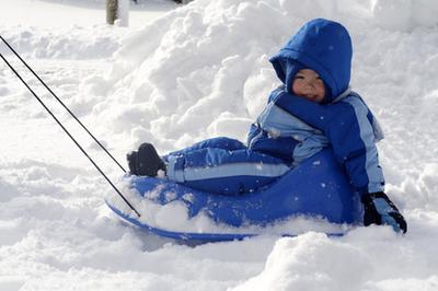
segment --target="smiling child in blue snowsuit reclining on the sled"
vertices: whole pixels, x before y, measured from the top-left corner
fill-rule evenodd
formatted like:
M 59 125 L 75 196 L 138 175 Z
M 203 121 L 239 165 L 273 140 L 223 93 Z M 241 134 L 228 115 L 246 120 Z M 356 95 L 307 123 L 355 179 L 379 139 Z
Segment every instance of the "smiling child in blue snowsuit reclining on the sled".
M 251 126 L 247 144 L 215 138 L 162 159 L 152 144 L 128 154 L 131 174 L 155 176 L 209 193 L 247 193 L 267 185 L 307 158 L 332 147 L 337 163 L 361 195 L 364 224 L 406 222 L 383 193 L 376 142 L 383 138 L 372 113 L 349 88 L 351 40 L 339 23 L 307 23 L 270 59 L 283 85 Z M 291 185 L 292 187 L 292 185 Z

